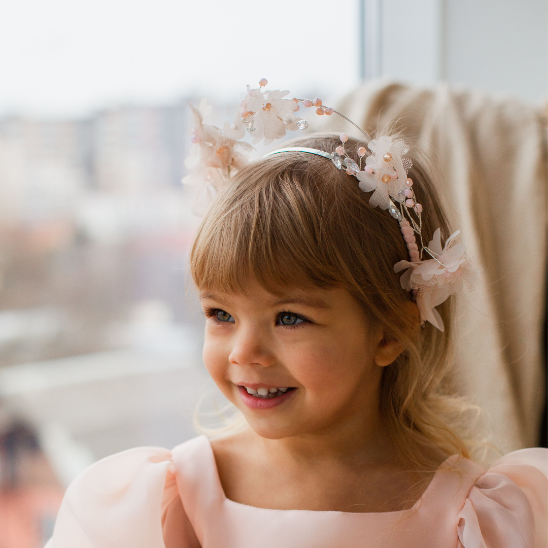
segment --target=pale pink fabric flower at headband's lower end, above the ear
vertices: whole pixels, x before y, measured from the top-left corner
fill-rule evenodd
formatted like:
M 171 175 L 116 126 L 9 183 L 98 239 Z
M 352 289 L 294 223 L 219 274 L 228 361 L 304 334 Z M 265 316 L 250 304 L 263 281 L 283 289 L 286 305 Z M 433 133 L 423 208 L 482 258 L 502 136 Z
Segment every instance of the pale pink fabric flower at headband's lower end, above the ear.
M 456 243 L 455 238 L 460 230 L 454 232 L 441 246 L 441 231 L 434 232 L 428 249 L 436 258 L 419 262 L 399 261 L 394 265 L 394 271 L 407 269 L 400 278 L 404 289 L 417 290 L 416 305 L 419 308 L 420 319 L 430 322 L 443 331 L 443 321 L 436 306 L 446 301 L 449 295 L 461 292 L 464 284 L 472 290 L 479 283 L 481 272 L 473 259 L 466 257 L 464 244 Z

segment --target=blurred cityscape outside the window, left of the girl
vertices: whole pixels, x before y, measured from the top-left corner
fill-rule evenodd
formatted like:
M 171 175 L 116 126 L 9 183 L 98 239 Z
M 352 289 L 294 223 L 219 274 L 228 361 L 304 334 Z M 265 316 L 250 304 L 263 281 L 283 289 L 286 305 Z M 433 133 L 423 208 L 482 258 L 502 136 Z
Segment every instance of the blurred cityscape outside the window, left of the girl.
M 0 548 L 37 548 L 94 460 L 194 435 L 186 101 L 0 119 Z

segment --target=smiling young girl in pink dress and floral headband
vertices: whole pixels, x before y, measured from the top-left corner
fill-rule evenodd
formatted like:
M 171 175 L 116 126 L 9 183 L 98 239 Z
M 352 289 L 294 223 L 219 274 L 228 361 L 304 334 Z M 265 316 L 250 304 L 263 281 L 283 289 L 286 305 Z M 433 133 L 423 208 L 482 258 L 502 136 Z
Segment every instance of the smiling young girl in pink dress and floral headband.
M 94 464 L 48 548 L 545 547 L 546 450 L 486 471 L 459 437 L 448 297 L 478 269 L 426 169 L 399 139 L 344 134 L 246 165 L 243 129 L 334 112 L 264 85 L 222 132 L 202 104 L 192 133 L 216 192 L 191 251 L 203 359 L 244 426 Z

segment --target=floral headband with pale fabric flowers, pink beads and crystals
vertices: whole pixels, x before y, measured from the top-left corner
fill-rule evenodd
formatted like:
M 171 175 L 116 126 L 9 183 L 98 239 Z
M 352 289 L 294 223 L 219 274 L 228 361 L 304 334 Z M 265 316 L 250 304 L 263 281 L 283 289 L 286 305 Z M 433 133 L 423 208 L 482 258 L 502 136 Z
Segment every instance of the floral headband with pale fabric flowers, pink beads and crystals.
M 190 123 L 191 156 L 186 159 L 190 174 L 183 182 L 202 184 L 195 204 L 195 213 L 202 214 L 214 197 L 216 191 L 230 178 L 231 174 L 245 167 L 249 161 L 246 153 L 253 147 L 241 139 L 246 131 L 253 136 L 253 144 L 264 139 L 268 145 L 275 139 L 281 139 L 288 131 L 306 129 L 305 120 L 295 117 L 295 112 L 304 107 L 316 107 L 317 115 L 343 117 L 361 132 L 369 141 L 367 154 L 364 146 L 358 148 L 358 162 L 346 152 L 344 144 L 348 137 L 341 134 L 341 144 L 335 152 L 329 153 L 306 147 L 289 147 L 269 152 L 265 156 L 283 152 L 304 152 L 322 156 L 331 161 L 336 168 L 344 169 L 347 174 L 355 176 L 363 192 L 373 192 L 369 205 L 386 209 L 399 222 L 404 241 L 409 251 L 409 260 L 402 260 L 394 265 L 395 272 L 405 272 L 400 277 L 403 289 L 407 290 L 415 301 L 421 323 L 430 322 L 443 331 L 443 321 L 436 306 L 442 304 L 449 295 L 460 293 L 464 285 L 472 290 L 479 284 L 478 274 L 481 269 L 473 258 L 466 257 L 466 247 L 458 243 L 456 237 L 460 230 L 446 240 L 443 248 L 441 231 L 437 229 L 432 240 L 425 246 L 422 233 L 423 207 L 416 202 L 413 192 L 413 180 L 407 174 L 412 162 L 405 157 L 409 147 L 402 139 L 393 139 L 389 135 L 380 139 L 371 139 L 366 132 L 340 112 L 326 107 L 321 99 L 284 99 L 289 92 L 267 90 L 265 78 L 259 82 L 259 88 L 247 87 L 246 96 L 239 103 L 233 124 L 225 122 L 221 130 L 213 125 L 203 123 L 212 107 L 202 99 L 196 109 L 190 105 L 192 118 Z M 363 169 L 362 169 L 363 165 Z M 423 260 L 423 255 L 428 259 Z

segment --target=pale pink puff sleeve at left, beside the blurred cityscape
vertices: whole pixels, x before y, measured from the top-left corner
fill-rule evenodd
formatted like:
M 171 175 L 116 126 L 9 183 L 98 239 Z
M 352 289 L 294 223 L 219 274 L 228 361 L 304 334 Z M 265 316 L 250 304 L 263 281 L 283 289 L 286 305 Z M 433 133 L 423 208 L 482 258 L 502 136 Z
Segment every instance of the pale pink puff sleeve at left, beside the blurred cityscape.
M 139 447 L 99 460 L 68 486 L 45 548 L 195 548 L 167 449 Z M 165 524 L 177 525 L 171 538 Z M 176 544 L 174 543 L 176 542 Z

